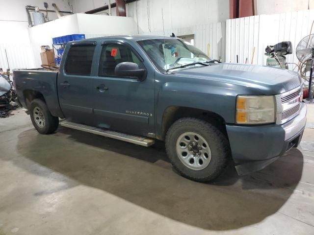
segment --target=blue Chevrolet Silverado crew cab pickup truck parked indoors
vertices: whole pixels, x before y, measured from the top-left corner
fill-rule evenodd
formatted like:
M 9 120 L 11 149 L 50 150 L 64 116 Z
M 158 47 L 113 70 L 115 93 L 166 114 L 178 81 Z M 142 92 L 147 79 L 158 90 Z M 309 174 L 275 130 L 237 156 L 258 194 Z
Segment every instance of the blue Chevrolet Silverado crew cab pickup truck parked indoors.
M 60 124 L 143 146 L 165 141 L 174 168 L 200 182 L 228 159 L 238 174 L 262 169 L 298 146 L 306 124 L 296 72 L 220 63 L 172 37 L 71 42 L 58 71 L 16 70 L 14 83 L 39 133 Z

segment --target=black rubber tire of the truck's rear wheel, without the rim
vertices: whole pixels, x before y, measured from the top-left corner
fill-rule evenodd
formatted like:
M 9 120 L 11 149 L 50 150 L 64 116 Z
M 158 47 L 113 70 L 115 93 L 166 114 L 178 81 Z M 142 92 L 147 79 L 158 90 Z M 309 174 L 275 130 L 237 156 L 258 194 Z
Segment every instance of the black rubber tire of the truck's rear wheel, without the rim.
M 44 125 L 39 126 L 34 119 L 34 109 L 38 107 L 42 110 L 43 117 L 45 119 Z M 51 115 L 46 103 L 41 99 L 34 99 L 30 103 L 30 119 L 35 129 L 44 135 L 52 134 L 59 126 L 59 118 Z

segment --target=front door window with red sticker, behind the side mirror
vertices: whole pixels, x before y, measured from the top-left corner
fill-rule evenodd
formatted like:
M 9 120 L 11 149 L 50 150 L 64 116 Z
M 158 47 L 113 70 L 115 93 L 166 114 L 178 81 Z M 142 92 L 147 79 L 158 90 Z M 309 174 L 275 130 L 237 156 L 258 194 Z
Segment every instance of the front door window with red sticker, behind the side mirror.
M 131 47 L 115 43 L 105 44 L 100 57 L 98 75 L 115 76 L 114 70 L 122 62 L 132 62 L 137 64 L 140 69 L 144 68 Z

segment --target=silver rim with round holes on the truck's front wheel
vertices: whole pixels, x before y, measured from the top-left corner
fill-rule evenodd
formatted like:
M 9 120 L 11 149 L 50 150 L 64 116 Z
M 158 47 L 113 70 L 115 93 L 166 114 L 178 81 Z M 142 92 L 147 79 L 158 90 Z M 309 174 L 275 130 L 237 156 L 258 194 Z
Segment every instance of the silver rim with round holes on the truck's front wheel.
M 190 169 L 202 170 L 211 160 L 208 142 L 195 132 L 184 132 L 176 141 L 176 152 L 180 161 Z

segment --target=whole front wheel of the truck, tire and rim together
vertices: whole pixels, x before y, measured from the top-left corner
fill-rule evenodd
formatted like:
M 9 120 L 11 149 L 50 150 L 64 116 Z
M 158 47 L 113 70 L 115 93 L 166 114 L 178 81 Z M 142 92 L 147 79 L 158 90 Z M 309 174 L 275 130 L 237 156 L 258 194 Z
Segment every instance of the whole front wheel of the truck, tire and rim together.
M 207 182 L 223 170 L 230 155 L 230 146 L 222 131 L 209 122 L 181 118 L 167 132 L 166 151 L 181 175 Z

